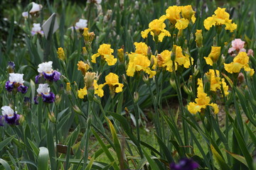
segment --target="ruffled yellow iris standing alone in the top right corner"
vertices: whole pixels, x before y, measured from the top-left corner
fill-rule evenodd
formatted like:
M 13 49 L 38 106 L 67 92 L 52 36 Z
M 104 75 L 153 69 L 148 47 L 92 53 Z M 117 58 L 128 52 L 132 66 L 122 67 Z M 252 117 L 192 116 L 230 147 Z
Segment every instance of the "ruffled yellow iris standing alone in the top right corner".
M 225 25 L 225 30 L 233 32 L 238 27 L 235 23 L 232 23 L 230 14 L 225 12 L 225 8 L 218 7 L 214 13 L 213 16 L 210 16 L 203 21 L 203 26 L 206 30 L 210 30 L 212 26 Z

